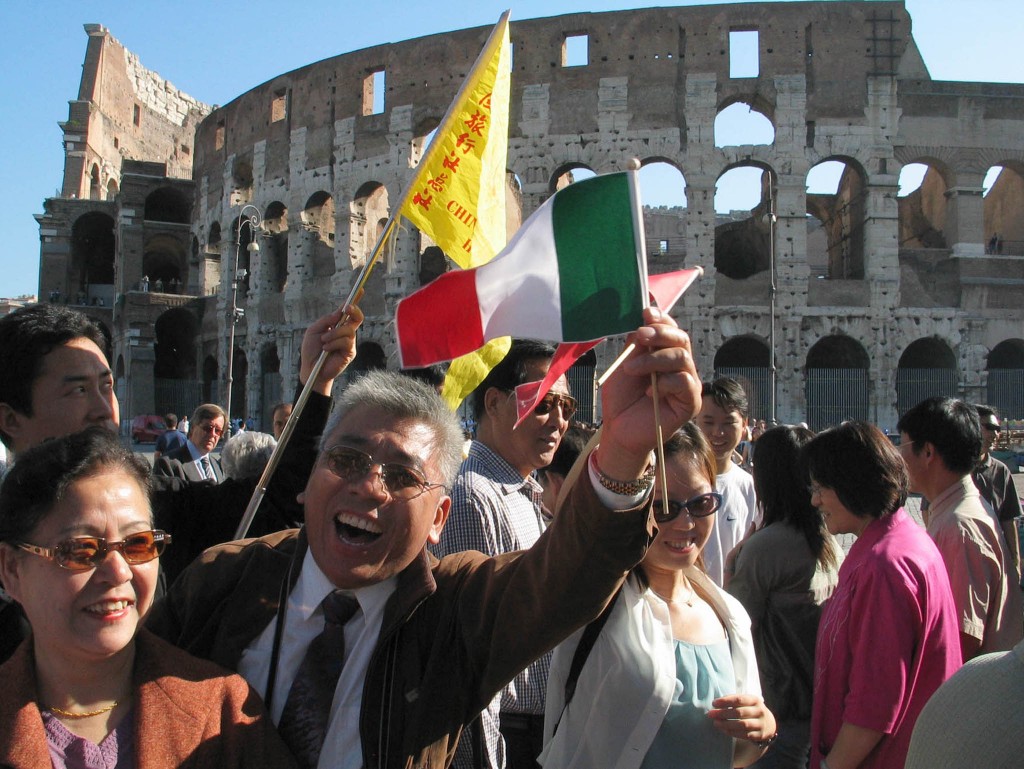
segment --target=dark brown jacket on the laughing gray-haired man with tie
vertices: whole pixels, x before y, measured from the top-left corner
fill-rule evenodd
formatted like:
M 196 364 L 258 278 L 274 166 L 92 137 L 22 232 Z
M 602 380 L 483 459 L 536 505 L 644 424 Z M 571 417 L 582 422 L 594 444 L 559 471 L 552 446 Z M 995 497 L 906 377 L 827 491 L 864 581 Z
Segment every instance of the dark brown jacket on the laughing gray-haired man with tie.
M 566 503 L 530 550 L 440 561 L 424 551 L 401 572 L 364 687 L 366 769 L 447 766 L 463 727 L 516 673 L 596 617 L 643 557 L 646 507 L 607 510 L 586 474 Z M 237 668 L 274 618 L 289 564 L 297 579 L 305 548 L 304 533 L 291 531 L 208 551 L 148 627 Z

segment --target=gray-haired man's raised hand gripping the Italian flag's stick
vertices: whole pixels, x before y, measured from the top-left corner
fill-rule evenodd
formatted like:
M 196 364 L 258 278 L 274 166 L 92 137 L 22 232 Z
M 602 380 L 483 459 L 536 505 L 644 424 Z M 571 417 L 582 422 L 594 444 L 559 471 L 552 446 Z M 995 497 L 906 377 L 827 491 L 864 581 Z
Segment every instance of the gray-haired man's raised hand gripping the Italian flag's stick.
M 662 434 L 668 439 L 700 410 L 700 377 L 690 339 L 670 315 L 651 307 L 630 334 L 636 349 L 604 384 L 597 464 L 612 478 L 637 478 L 657 444 L 651 374 L 656 374 Z

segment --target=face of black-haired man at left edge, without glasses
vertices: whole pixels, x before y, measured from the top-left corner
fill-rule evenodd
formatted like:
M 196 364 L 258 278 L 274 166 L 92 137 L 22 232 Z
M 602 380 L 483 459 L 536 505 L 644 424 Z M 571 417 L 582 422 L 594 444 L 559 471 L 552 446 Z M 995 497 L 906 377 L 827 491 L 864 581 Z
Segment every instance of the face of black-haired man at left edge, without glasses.
M 0 403 L 0 420 L 15 452 L 91 425 L 117 432 L 118 399 L 103 351 L 85 337 L 54 347 L 32 383 L 32 416 Z

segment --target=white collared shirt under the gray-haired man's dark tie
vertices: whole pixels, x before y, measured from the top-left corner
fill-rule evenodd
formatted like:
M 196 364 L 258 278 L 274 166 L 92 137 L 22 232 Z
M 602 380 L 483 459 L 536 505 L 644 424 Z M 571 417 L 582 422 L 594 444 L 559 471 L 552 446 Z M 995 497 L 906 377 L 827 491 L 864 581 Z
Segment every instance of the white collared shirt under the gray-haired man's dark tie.
M 391 578 L 352 591 L 359 602 L 359 610 L 345 624 L 345 664 L 331 703 L 319 769 L 360 769 L 362 766 L 359 744 L 362 686 L 370 657 L 380 637 L 384 605 L 394 592 L 395 584 L 396 578 Z M 312 552 L 306 551 L 302 570 L 288 596 L 285 612 L 273 700 L 268 703 L 274 724 L 281 720 L 288 691 L 305 656 L 306 648 L 324 630 L 324 609 L 321 608 L 321 603 L 334 590 L 334 585 L 316 565 Z M 246 648 L 239 663 L 239 673 L 264 697 L 275 628 L 276 621 L 271 622 Z

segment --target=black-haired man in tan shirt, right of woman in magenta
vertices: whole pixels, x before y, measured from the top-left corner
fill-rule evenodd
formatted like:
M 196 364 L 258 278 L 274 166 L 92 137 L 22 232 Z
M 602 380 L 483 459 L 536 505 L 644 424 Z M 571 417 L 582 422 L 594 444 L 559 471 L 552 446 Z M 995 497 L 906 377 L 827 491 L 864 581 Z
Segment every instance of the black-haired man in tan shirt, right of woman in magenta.
M 978 412 L 936 396 L 910 409 L 896 428 L 910 490 L 929 501 L 925 524 L 949 572 L 964 660 L 1008 651 L 1024 636 L 1024 615 L 1002 537 L 971 480 L 981 455 Z

